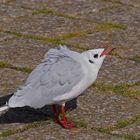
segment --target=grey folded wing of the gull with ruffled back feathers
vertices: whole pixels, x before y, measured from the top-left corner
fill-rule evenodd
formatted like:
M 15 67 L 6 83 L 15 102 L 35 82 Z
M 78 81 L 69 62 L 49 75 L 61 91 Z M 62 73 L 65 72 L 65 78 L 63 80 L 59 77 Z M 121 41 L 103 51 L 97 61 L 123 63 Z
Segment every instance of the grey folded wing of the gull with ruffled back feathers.
M 68 54 L 78 55 L 67 49 L 51 49 L 11 97 L 9 106 L 40 108 L 52 104 L 53 98 L 70 92 L 84 74 L 81 64 Z

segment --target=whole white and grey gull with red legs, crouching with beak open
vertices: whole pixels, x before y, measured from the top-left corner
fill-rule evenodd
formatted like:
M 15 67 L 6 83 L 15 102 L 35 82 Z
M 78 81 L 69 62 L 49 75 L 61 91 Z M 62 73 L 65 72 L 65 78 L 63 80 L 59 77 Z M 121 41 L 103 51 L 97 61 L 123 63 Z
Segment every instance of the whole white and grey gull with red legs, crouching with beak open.
M 66 129 L 75 127 L 67 120 L 65 103 L 95 82 L 106 55 L 112 50 L 105 47 L 78 53 L 62 45 L 50 49 L 0 112 L 16 107 L 37 109 L 53 105 L 54 121 Z M 57 105 L 61 105 L 61 118 Z

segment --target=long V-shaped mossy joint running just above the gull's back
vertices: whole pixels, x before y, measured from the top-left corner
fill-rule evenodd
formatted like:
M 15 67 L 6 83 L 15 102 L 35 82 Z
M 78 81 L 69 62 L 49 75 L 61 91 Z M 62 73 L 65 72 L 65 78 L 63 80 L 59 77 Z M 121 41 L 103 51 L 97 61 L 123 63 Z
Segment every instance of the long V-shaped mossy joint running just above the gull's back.
M 95 27 L 89 28 L 87 30 L 83 30 L 83 31 L 79 31 L 79 32 L 70 32 L 70 33 L 63 34 L 61 36 L 56 36 L 53 38 L 43 37 L 40 35 L 33 35 L 33 34 L 23 34 L 20 32 L 7 31 L 7 30 L 3 30 L 3 29 L 0 29 L 0 31 L 9 33 L 11 35 L 15 35 L 16 37 L 31 38 L 34 40 L 41 40 L 41 41 L 52 43 L 52 44 L 62 44 L 65 40 L 70 39 L 70 38 L 81 37 L 81 36 L 83 37 L 83 36 L 87 36 L 88 34 L 92 34 L 95 32 L 110 31 L 112 29 L 125 30 L 126 28 L 127 28 L 126 25 L 119 24 L 119 23 L 100 23 L 100 24 L 97 24 Z

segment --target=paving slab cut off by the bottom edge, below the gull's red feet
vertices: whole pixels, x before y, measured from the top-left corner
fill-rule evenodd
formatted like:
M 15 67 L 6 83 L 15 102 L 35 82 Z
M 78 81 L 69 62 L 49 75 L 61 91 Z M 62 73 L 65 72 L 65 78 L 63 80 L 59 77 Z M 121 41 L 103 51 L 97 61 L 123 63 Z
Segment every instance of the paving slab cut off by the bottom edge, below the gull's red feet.
M 53 131 L 52 131 L 53 129 Z M 41 133 L 36 133 L 36 130 Z M 21 138 L 29 139 L 30 140 L 124 140 L 123 138 L 111 136 L 108 134 L 102 134 L 99 132 L 94 132 L 92 130 L 87 129 L 74 129 L 74 130 L 64 130 L 60 127 L 55 127 L 50 124 L 48 126 L 40 127 L 37 129 L 29 130 L 18 135 L 13 135 L 10 137 L 10 140 Z M 3 138 L 3 140 L 9 140 L 9 138 Z

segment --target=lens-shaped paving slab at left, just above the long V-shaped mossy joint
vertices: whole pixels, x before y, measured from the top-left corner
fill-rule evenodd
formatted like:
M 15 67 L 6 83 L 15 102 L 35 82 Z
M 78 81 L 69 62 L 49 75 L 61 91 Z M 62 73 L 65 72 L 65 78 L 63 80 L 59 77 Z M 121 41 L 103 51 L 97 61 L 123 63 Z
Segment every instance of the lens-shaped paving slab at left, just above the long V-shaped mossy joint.
M 70 32 L 79 32 L 87 28 L 93 28 L 95 23 L 88 23 L 78 19 L 71 20 L 64 17 L 49 14 L 32 15 L 21 17 L 9 25 L 9 21 L 0 23 L 0 28 L 24 34 L 41 35 L 44 37 L 56 37 Z

